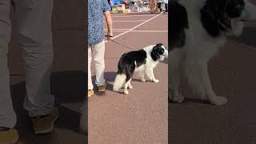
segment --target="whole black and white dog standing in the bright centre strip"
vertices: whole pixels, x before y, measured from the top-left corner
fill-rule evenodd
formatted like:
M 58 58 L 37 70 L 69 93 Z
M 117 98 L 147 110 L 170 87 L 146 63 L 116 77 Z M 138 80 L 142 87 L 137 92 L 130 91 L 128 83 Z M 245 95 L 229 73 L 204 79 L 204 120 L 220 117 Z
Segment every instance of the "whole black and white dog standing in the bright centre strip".
M 145 74 L 150 81 L 159 82 L 158 79 L 154 78 L 153 69 L 159 61 L 163 61 L 166 57 L 168 57 L 168 50 L 162 43 L 122 54 L 118 62 L 118 74 L 114 80 L 113 90 L 119 91 L 124 85 L 124 93 L 128 94 L 127 88 L 133 89 L 130 81 L 134 72 L 138 72 L 142 82 L 146 82 Z

